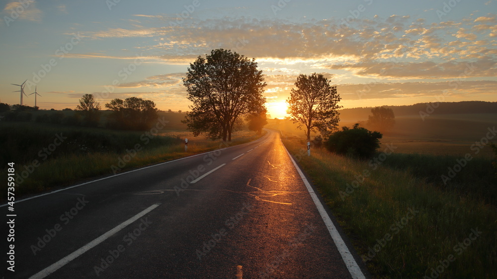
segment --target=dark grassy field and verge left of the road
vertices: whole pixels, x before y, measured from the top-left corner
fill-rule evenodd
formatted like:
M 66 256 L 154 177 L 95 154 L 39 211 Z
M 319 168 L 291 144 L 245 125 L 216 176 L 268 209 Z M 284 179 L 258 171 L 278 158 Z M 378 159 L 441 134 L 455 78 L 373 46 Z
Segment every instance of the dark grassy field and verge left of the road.
M 0 122 L 3 146 L 0 173 L 6 177 L 7 163 L 15 163 L 16 196 L 19 197 L 260 137 L 242 130 L 234 133 L 232 142 L 223 143 L 195 138 L 181 128 L 178 121 L 169 122 L 163 130 L 153 127 L 143 132 L 3 121 Z M 186 152 L 184 137 L 188 137 Z M 3 200 L 5 185 L 0 188 L 0 200 Z

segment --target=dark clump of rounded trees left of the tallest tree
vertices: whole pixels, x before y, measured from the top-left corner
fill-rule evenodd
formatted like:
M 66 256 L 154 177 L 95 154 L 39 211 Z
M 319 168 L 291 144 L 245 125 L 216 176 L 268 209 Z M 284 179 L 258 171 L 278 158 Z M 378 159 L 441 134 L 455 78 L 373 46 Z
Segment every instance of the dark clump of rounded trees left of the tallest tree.
M 146 130 L 157 119 L 156 104 L 151 100 L 138 97 L 113 99 L 105 107 L 113 111 L 111 117 L 116 128 Z

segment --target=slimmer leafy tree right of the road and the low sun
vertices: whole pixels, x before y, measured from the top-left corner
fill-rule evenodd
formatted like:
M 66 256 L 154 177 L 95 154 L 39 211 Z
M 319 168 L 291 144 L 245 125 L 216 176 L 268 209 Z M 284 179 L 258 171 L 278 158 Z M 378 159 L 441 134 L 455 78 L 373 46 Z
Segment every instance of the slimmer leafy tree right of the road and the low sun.
M 320 73 L 300 74 L 295 86 L 297 89 L 292 88 L 286 100 L 287 113 L 299 128 L 305 126 L 307 140 L 311 140 L 311 132 L 319 131 L 327 136 L 336 130 L 339 115 L 336 110 L 341 108 L 336 86 L 331 86 L 330 80 Z

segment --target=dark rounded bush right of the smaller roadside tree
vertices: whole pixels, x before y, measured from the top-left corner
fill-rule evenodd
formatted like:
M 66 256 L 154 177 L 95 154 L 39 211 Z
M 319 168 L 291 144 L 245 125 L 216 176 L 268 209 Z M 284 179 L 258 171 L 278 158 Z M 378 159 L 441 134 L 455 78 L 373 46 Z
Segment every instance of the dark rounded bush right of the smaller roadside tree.
M 342 127 L 342 131 L 331 134 L 325 146 L 331 152 L 351 157 L 372 157 L 378 148 L 383 135 L 380 132 L 371 132 L 366 128 L 354 124 L 352 129 Z

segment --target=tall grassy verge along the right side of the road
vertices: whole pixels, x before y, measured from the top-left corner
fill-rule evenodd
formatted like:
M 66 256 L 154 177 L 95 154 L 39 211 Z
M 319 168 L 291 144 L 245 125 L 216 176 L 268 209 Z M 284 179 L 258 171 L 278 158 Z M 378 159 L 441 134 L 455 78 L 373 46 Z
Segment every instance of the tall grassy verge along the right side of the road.
M 283 142 L 294 155 L 304 147 L 298 140 Z M 423 159 L 391 156 L 385 160 L 391 163 L 376 169 L 325 149 L 295 157 L 374 278 L 497 278 L 496 207 L 434 187 L 420 172 L 429 165 Z M 400 165 L 403 159 L 411 160 L 405 165 L 417 164 L 418 171 Z M 413 216 L 410 210 L 419 212 Z M 482 234 L 470 240 L 472 229 Z

